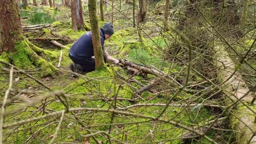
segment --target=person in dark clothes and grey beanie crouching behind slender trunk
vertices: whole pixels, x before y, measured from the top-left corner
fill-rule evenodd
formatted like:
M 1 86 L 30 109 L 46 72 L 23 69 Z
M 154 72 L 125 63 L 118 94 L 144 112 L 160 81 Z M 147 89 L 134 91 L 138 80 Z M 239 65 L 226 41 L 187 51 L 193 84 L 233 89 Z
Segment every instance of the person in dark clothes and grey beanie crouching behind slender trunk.
M 119 61 L 112 58 L 104 48 L 105 39 L 114 34 L 113 25 L 107 22 L 100 28 L 100 41 L 103 51 L 104 61 L 118 63 Z M 82 35 L 70 48 L 69 58 L 74 62 L 70 69 L 76 73 L 90 72 L 95 70 L 95 60 L 93 58 L 92 32 L 89 31 Z

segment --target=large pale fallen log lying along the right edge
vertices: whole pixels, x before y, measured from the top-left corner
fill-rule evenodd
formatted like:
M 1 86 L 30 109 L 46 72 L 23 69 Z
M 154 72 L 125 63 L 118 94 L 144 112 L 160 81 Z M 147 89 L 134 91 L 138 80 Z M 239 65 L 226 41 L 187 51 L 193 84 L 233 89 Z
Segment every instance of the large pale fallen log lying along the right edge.
M 228 110 L 231 127 L 236 131 L 236 142 L 238 144 L 256 143 L 256 107 L 248 104 L 252 101 L 253 94 L 237 72 L 239 65 L 235 66 L 225 47 L 222 44 L 215 44 L 213 47 L 217 76 L 222 83 L 223 93 L 226 94 L 225 105 L 227 107 L 232 105 Z

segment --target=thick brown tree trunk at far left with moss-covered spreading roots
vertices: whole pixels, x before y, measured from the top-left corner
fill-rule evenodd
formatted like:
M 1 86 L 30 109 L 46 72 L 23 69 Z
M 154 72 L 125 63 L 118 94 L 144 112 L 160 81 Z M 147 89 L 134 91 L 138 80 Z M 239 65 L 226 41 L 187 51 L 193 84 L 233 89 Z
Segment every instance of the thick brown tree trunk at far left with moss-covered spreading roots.
M 57 68 L 50 62 L 39 57 L 38 54 L 45 54 L 44 50 L 31 44 L 23 36 L 18 10 L 17 1 L 6 0 L 4 3 L 0 3 L 0 33 L 2 41 L 0 54 L 6 52 L 10 62 L 18 68 L 28 68 L 28 64 L 30 64 L 42 67 L 47 71 L 47 74 L 57 71 Z

